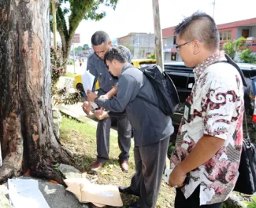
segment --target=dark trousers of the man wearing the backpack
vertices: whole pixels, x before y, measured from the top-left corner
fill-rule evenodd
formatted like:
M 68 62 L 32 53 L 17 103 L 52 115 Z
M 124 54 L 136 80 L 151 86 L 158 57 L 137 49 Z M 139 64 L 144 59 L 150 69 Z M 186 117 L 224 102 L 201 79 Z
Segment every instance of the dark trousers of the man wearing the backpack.
M 135 174 L 132 177 L 132 192 L 140 195 L 143 208 L 154 208 L 165 168 L 169 138 L 146 146 L 135 146 Z

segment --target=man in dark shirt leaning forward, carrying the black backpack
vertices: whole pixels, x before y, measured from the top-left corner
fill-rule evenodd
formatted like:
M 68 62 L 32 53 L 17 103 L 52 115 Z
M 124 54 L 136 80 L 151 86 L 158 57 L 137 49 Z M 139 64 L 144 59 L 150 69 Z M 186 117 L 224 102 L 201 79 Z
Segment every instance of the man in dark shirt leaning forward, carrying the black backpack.
M 134 130 L 135 174 L 128 188 L 120 187 L 124 193 L 139 195 L 139 201 L 129 208 L 154 208 L 161 185 L 169 137 L 173 123 L 160 109 L 137 96 L 158 104 L 158 97 L 143 72 L 129 64 L 120 47 L 113 47 L 105 55 L 109 71 L 119 77 L 117 96 L 112 99 L 98 97 L 87 92 L 88 100 L 109 111 L 126 110 Z

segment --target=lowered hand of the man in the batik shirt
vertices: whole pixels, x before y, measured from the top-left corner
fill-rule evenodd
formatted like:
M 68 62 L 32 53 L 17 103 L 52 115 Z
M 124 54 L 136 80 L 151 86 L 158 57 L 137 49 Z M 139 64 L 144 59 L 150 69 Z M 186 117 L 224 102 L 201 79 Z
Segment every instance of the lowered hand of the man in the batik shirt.
M 184 173 L 183 170 L 181 170 L 180 166 L 176 166 L 173 169 L 173 172 L 170 174 L 169 177 L 169 186 L 170 187 L 182 187 L 184 185 L 184 181 L 187 177 L 187 173 Z

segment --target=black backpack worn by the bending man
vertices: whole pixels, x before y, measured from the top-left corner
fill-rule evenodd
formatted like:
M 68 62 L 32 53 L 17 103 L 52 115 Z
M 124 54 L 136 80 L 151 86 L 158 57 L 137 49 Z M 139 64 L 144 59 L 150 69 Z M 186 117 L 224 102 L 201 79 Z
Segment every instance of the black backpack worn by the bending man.
M 147 66 L 139 70 L 143 71 L 143 74 L 146 75 L 154 91 L 157 93 L 158 104 L 145 97 L 137 97 L 159 108 L 165 115 L 173 115 L 180 104 L 179 95 L 173 80 L 165 71 L 161 72 L 161 68 L 158 65 Z

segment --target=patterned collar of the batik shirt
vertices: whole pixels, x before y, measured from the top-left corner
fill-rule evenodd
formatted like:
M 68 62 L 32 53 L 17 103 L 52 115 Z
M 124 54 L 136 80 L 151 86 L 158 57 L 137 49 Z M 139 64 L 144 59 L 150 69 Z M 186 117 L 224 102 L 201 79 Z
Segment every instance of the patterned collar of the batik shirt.
M 206 68 L 210 67 L 211 64 L 215 63 L 217 60 L 220 60 L 224 57 L 224 51 L 218 51 L 217 53 L 213 53 L 210 57 L 206 58 L 206 60 L 202 61 L 201 64 L 198 64 L 193 72 L 195 73 L 195 77 L 198 78 Z

